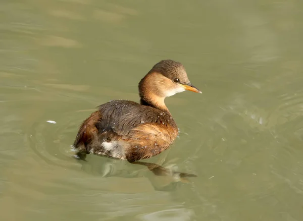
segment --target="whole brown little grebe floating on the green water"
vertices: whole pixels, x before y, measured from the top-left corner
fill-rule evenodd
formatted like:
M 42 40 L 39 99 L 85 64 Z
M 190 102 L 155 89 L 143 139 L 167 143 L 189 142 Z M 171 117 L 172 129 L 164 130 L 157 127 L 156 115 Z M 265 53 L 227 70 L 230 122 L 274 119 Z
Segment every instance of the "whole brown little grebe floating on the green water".
M 201 93 L 189 82 L 181 63 L 159 62 L 139 83 L 140 104 L 112 100 L 82 123 L 74 142 L 75 157 L 85 159 L 93 153 L 134 162 L 166 150 L 178 128 L 164 99 L 185 90 Z

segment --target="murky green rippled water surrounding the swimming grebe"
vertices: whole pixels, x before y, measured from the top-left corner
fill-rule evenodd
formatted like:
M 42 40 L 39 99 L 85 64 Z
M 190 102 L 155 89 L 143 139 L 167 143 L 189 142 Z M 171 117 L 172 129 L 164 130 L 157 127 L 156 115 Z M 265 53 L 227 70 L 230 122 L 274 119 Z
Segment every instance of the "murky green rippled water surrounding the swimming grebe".
M 0 10 L 1 220 L 302 220 L 300 1 L 6 0 Z M 95 106 L 138 101 L 162 59 L 182 62 L 203 94 L 166 99 L 180 136 L 147 161 L 198 177 L 171 184 L 140 165 L 73 159 Z

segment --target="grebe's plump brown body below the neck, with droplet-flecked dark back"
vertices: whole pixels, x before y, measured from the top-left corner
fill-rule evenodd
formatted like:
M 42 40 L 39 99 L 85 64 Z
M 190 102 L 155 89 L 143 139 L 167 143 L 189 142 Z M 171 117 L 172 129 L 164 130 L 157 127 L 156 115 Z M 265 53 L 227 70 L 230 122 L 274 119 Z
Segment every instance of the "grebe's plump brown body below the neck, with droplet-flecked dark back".
M 82 124 L 75 141 L 81 152 L 136 161 L 167 149 L 178 135 L 172 116 L 151 106 L 113 100 Z

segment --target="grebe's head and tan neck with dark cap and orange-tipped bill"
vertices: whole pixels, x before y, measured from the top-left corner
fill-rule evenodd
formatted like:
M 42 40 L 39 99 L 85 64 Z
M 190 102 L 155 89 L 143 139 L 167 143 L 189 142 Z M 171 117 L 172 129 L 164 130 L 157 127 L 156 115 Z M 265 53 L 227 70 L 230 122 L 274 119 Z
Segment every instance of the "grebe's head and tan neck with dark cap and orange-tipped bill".
M 139 83 L 141 102 L 145 101 L 165 110 L 165 97 L 185 90 L 202 93 L 190 83 L 184 66 L 172 60 L 157 63 Z

